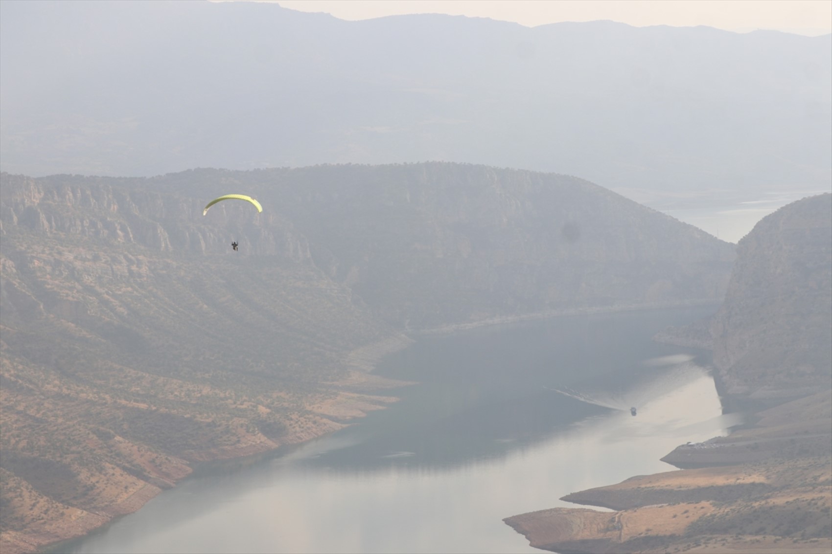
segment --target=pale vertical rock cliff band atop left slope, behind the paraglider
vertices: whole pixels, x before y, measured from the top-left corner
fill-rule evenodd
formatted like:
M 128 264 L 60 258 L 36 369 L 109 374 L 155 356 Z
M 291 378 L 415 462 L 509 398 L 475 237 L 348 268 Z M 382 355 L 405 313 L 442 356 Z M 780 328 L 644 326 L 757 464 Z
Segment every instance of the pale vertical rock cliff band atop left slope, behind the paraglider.
M 225 252 L 228 233 L 242 231 L 244 251 L 309 259 L 309 248 L 288 221 L 255 215 L 241 206 L 221 206 L 202 216 L 192 198 L 119 186 L 120 180 L 59 176 L 33 180 L 4 176 L 2 225 L 35 235 L 138 245 L 157 252 Z M 114 186 L 115 185 L 115 186 Z

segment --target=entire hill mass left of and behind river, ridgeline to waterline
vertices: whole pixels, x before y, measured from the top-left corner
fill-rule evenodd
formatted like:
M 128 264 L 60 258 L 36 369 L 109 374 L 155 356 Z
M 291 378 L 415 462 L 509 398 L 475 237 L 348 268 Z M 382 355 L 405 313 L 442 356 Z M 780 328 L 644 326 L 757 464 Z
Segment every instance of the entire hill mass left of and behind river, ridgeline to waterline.
M 3 552 L 384 406 L 368 370 L 409 332 L 716 303 L 734 256 L 587 181 L 485 166 L 0 185 Z M 263 213 L 202 215 L 227 193 Z

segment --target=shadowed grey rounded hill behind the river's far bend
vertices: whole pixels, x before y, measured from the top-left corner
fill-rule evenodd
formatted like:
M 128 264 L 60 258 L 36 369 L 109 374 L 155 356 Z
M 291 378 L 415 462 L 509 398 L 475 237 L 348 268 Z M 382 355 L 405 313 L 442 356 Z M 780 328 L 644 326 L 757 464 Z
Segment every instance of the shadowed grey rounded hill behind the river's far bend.
M 732 245 L 691 225 L 587 181 L 531 171 L 316 166 L 193 171 L 144 185 L 198 195 L 218 177 L 290 220 L 319 268 L 410 329 L 557 309 L 718 302 L 733 261 Z

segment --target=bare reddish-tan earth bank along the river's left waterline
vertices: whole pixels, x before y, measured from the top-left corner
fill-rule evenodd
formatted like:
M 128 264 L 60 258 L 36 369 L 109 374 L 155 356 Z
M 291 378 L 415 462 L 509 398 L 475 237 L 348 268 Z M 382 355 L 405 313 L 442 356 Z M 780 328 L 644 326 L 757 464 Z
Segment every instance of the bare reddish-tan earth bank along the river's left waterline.
M 244 458 L 269 452 L 281 445 L 302 443 L 346 427 L 349 419 L 362 418 L 369 411 L 384 409 L 398 398 L 385 395 L 383 391 L 409 383 L 383 378 L 369 371 L 379 359 L 406 348 L 412 342 L 412 339 L 399 335 L 349 353 L 344 364 L 351 369 L 339 382 L 329 383 L 337 392 L 325 398 L 309 398 L 305 408 L 310 415 L 287 422 L 286 433 L 279 441 L 265 438 L 260 433 L 240 432 L 239 441 L 233 445 L 195 450 L 176 458 L 152 453 L 120 437 L 106 438 L 108 448 L 116 448 L 130 456 L 154 478 L 146 482 L 124 472 L 111 471 L 106 480 L 102 480 L 90 473 L 88 479 L 79 483 L 81 508 L 56 502 L 34 490 L 14 473 L 0 468 L 0 478 L 10 491 L 2 502 L 4 522 L 8 527 L 22 529 L 6 528 L 0 532 L 0 552 L 37 552 L 56 542 L 81 537 L 114 517 L 136 512 L 156 494 L 176 486 L 176 482 L 190 475 L 194 463 Z M 22 460 L 22 463 L 27 461 Z

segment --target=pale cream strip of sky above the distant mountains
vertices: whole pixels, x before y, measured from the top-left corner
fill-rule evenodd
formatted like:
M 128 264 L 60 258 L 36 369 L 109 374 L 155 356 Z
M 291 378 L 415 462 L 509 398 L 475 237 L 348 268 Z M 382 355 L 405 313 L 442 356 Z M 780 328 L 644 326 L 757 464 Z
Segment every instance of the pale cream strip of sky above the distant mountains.
M 832 32 L 832 0 L 278 0 L 304 12 L 356 20 L 402 13 L 491 17 L 535 27 L 609 19 L 636 27 L 707 25 L 731 31 Z

